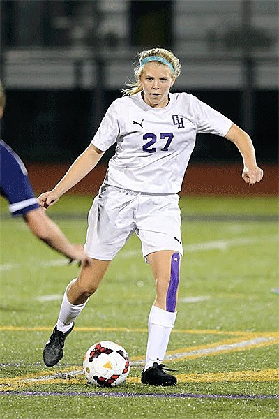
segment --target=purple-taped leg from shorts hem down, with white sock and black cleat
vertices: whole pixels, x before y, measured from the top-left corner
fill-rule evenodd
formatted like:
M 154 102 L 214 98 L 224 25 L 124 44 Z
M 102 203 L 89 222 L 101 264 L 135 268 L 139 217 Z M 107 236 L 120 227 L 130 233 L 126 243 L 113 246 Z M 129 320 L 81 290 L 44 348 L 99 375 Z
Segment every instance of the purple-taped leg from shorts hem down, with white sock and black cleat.
M 179 286 L 180 254 L 158 251 L 148 257 L 156 281 L 156 300 L 149 314 L 149 339 L 142 383 L 174 385 L 176 378 L 163 371 L 169 336 L 176 319 L 176 299 Z

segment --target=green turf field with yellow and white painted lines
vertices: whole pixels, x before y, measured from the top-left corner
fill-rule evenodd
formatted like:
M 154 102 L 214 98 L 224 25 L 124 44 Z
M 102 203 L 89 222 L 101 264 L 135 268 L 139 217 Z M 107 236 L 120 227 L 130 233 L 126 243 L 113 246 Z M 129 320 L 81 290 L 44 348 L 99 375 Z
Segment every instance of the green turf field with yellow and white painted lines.
M 48 214 L 84 242 L 89 197 Z M 278 205 L 275 198 L 181 198 L 180 300 L 165 362 L 174 388 L 140 384 L 151 270 L 132 237 L 77 319 L 59 366 L 42 351 L 78 272 L 10 219 L 1 200 L 1 418 L 278 418 Z M 125 385 L 86 383 L 82 359 L 116 341 L 133 366 Z

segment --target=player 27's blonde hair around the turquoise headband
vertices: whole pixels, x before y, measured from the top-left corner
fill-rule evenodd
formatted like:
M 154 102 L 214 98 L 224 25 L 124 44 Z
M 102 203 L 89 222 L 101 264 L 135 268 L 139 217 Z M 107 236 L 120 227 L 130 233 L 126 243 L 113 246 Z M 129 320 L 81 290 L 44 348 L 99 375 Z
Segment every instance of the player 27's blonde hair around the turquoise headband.
M 169 63 L 174 68 L 174 73 L 172 75 L 172 78 L 179 77 L 181 72 L 181 64 L 179 62 L 179 59 L 175 57 L 175 55 L 169 51 L 165 50 L 164 48 L 151 48 L 151 50 L 142 51 L 137 54 L 137 57 L 139 61 L 141 62 L 146 57 L 162 57 L 169 61 Z M 158 61 L 154 61 L 154 63 L 158 64 L 159 66 L 162 65 Z M 165 65 L 165 64 L 163 64 Z M 140 85 L 140 78 L 142 76 L 142 71 L 144 69 L 144 66 L 141 66 L 140 64 L 135 68 L 134 75 L 135 75 L 135 82 L 129 82 L 128 89 L 121 89 L 123 96 L 132 96 L 133 94 L 137 94 L 139 91 L 142 91 L 142 86 Z

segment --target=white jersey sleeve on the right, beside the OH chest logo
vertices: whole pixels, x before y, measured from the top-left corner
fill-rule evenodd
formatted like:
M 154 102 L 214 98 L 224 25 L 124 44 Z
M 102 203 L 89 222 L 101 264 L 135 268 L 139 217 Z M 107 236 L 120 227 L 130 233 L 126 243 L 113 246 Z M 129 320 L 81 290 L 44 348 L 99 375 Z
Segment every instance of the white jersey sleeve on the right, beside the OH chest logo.
M 197 115 L 197 133 L 227 135 L 232 121 L 206 103 L 195 98 L 195 113 Z

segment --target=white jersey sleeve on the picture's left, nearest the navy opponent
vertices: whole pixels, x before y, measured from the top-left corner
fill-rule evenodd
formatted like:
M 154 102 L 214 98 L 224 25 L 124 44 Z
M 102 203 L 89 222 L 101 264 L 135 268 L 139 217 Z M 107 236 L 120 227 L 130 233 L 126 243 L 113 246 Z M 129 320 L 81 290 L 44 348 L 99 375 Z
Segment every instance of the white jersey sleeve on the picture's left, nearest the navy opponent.
M 117 103 L 114 101 L 107 109 L 98 131 L 92 138 L 91 144 L 102 150 L 102 152 L 105 152 L 114 144 L 114 142 L 116 142 L 118 135 L 119 122 L 117 118 Z

